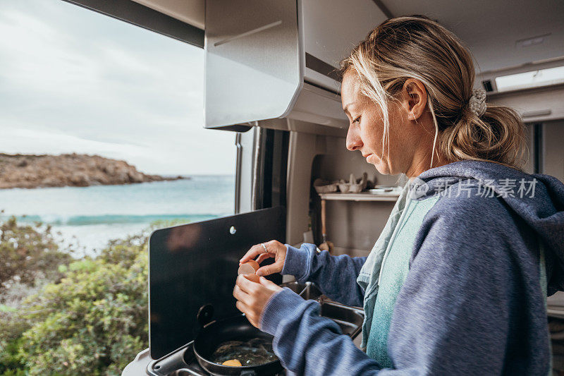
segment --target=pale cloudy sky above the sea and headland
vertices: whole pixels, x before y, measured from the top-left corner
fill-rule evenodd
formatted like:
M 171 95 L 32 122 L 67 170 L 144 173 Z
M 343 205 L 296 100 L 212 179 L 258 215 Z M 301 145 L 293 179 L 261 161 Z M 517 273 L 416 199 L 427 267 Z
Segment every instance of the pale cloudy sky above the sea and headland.
M 0 0 L 0 152 L 234 174 L 235 133 L 203 112 L 202 49 L 62 0 Z

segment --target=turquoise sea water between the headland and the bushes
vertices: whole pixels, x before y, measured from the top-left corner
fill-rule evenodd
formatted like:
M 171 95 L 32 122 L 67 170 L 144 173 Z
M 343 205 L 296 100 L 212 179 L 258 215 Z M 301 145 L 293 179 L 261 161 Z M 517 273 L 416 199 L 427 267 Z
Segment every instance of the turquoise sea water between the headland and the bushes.
M 0 190 L 0 219 L 50 224 L 79 254 L 137 234 L 155 221 L 197 222 L 233 214 L 234 176 L 192 176 L 123 186 Z

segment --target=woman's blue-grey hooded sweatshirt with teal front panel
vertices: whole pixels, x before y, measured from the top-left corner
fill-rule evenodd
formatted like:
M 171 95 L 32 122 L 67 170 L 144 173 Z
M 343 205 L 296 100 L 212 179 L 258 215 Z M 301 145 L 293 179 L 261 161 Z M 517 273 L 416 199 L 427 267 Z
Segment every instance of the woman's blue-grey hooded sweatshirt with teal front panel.
M 299 375 L 547 375 L 546 296 L 564 289 L 564 185 L 490 162 L 405 187 L 368 257 L 287 245 L 283 274 L 364 306 L 361 351 L 289 289 L 260 327 Z

